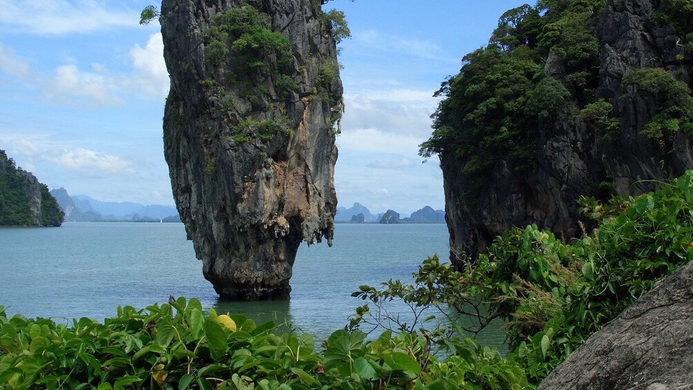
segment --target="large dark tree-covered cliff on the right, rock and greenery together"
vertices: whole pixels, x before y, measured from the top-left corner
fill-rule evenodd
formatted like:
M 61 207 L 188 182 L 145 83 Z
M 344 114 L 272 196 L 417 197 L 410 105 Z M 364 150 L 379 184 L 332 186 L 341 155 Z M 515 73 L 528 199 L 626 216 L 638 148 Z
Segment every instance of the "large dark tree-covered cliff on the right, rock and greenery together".
M 693 168 L 693 10 L 681 0 L 540 0 L 505 12 L 438 96 L 451 258 L 511 227 L 579 236 L 576 200 Z M 589 228 L 589 226 L 588 226 Z

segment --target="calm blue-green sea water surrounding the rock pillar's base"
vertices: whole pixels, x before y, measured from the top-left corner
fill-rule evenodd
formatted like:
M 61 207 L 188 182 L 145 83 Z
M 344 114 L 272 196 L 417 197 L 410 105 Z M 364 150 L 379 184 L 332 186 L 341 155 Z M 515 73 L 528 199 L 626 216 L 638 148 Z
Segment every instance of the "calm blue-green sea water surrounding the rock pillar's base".
M 66 222 L 59 228 L 0 228 L 0 305 L 8 314 L 67 322 L 103 320 L 118 305 L 145 308 L 168 296 L 204 308 L 277 318 L 324 339 L 343 328 L 359 285 L 410 280 L 428 256 L 448 257 L 444 224 L 337 224 L 333 247 L 301 245 L 291 299 L 229 302 L 202 276 L 182 224 Z M 491 335 L 498 340 L 502 336 Z

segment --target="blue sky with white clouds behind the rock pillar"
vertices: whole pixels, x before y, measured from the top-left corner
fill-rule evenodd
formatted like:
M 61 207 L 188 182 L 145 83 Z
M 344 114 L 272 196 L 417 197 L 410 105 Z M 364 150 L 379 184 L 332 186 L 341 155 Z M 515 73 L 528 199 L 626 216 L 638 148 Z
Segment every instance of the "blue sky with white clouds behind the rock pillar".
M 444 209 L 437 157 L 419 144 L 441 82 L 486 46 L 515 0 L 333 0 L 351 39 L 340 62 L 339 206 L 408 216 Z M 173 205 L 162 117 L 168 72 L 139 0 L 0 0 L 0 149 L 49 188 Z M 530 2 L 534 4 L 534 2 Z

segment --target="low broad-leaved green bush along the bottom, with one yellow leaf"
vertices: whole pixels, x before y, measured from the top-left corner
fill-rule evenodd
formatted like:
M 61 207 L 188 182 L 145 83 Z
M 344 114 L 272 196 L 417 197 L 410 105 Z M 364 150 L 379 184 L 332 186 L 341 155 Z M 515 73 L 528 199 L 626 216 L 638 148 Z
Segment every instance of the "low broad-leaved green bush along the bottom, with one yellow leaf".
M 0 386 L 12 389 L 457 389 L 520 388 L 522 369 L 471 340 L 431 353 L 428 335 L 385 332 L 366 341 L 338 330 L 317 352 L 313 337 L 274 333 L 240 315 L 206 315 L 197 299 L 146 310 L 118 308 L 103 323 L 71 326 L 8 318 L 0 308 Z

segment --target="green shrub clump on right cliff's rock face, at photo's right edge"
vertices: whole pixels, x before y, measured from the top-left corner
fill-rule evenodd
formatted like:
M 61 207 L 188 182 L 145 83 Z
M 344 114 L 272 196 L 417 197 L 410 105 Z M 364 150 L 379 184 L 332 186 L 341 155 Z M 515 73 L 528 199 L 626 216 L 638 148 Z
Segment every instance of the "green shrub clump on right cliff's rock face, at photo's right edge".
M 626 73 L 622 83 L 635 87 L 657 109 L 651 121 L 644 125 L 643 134 L 663 147 L 671 145 L 678 132 L 693 137 L 693 96 L 685 82 L 676 80 L 665 69 L 651 68 Z

